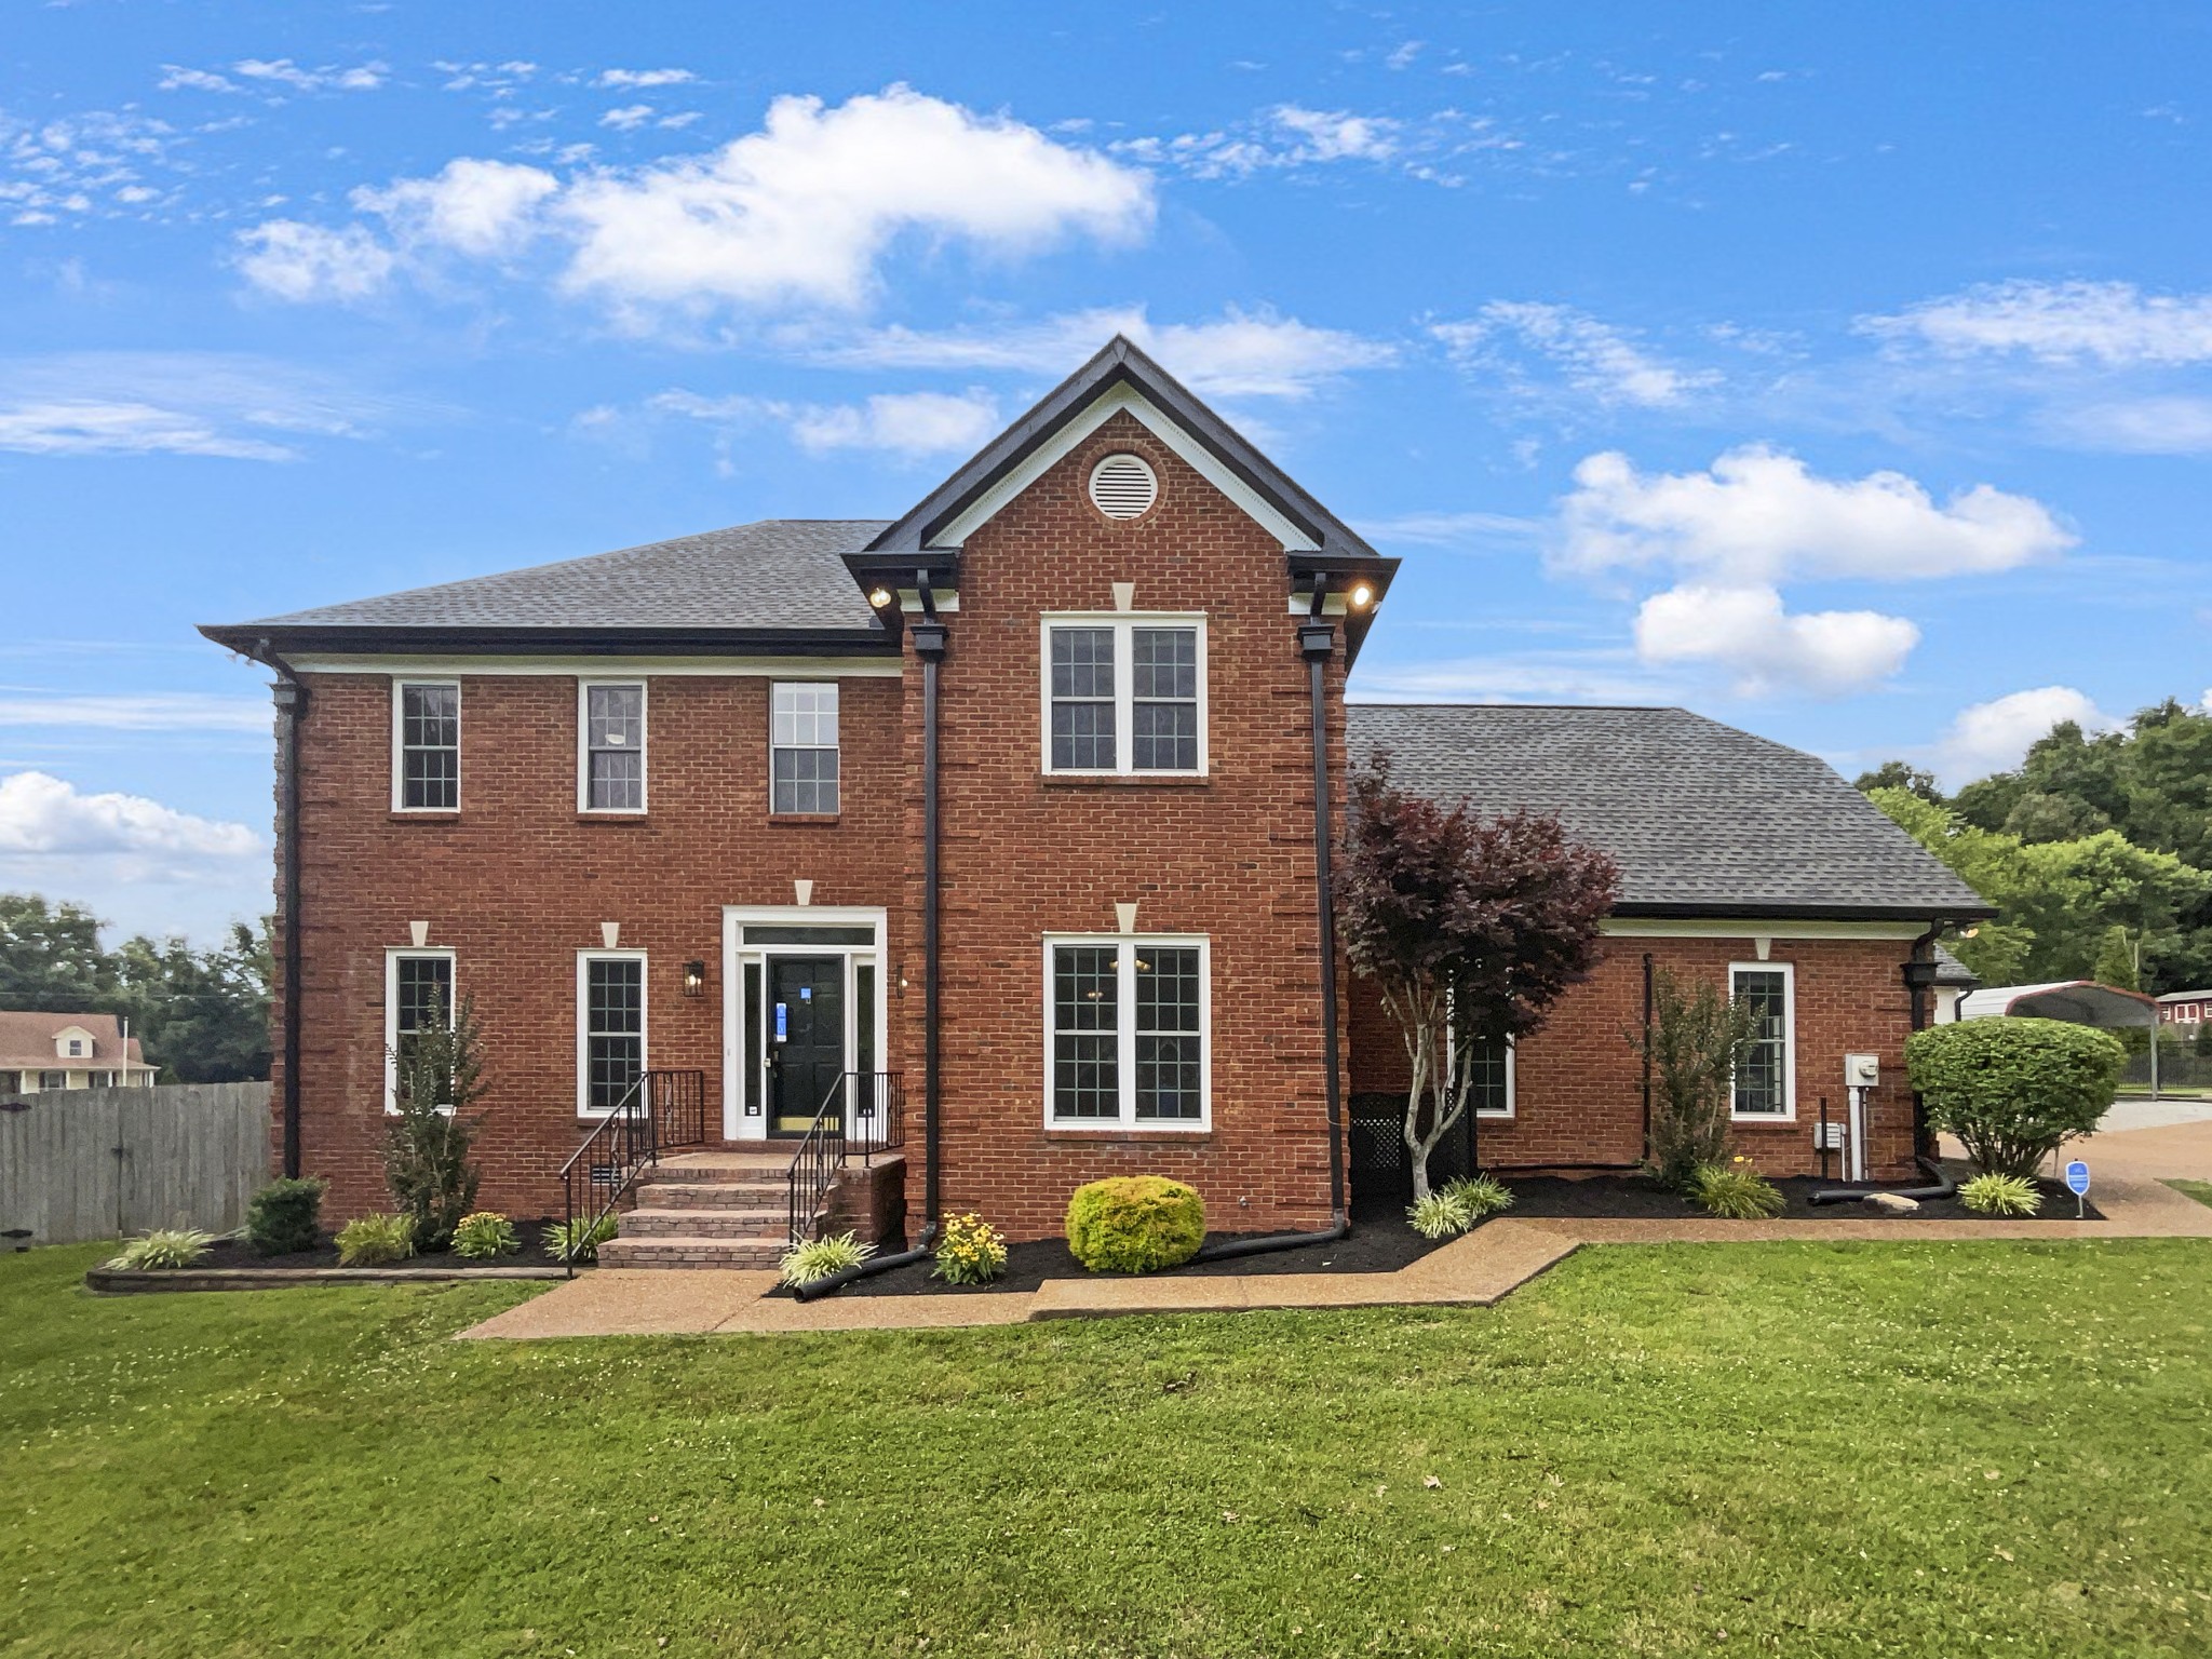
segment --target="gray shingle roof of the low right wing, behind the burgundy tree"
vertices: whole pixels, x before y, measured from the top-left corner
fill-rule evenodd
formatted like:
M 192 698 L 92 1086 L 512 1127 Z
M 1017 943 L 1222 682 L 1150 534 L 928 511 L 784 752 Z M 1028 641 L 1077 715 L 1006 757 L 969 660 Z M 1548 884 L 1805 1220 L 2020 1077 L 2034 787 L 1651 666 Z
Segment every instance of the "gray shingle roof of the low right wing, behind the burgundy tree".
M 1681 708 L 1360 703 L 1352 759 L 1482 812 L 1553 812 L 1621 867 L 1624 914 L 1986 916 L 1834 768 Z

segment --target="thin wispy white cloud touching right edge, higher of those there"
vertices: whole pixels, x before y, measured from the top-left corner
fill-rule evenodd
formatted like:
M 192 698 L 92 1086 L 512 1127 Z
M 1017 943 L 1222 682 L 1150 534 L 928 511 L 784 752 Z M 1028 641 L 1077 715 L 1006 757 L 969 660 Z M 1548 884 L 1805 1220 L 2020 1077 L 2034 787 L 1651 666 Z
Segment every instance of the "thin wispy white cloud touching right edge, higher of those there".
M 2143 294 L 2135 283 L 1989 283 L 1860 319 L 1860 327 L 1940 352 L 2026 352 L 2101 367 L 2212 363 L 2212 294 Z

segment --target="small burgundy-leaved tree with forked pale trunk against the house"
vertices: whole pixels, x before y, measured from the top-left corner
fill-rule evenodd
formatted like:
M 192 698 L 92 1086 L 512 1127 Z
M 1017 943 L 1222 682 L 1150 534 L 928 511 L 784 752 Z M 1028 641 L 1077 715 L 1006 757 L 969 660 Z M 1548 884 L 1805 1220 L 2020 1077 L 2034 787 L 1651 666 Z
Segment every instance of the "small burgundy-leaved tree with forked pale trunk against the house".
M 1467 1115 L 1478 1048 L 1542 1029 L 1559 993 L 1590 978 L 1619 880 L 1548 814 L 1486 818 L 1467 801 L 1407 794 L 1380 752 L 1352 774 L 1338 936 L 1411 1062 L 1416 1203 L 1429 1197 L 1429 1155 Z

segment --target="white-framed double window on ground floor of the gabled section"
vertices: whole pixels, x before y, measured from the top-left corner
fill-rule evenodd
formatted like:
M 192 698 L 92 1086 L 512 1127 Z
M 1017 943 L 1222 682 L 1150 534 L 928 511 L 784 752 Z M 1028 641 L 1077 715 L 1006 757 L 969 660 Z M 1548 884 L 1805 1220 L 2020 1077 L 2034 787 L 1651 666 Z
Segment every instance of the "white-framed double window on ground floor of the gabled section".
M 1203 936 L 1046 936 L 1046 1128 L 1210 1128 L 1212 1060 Z

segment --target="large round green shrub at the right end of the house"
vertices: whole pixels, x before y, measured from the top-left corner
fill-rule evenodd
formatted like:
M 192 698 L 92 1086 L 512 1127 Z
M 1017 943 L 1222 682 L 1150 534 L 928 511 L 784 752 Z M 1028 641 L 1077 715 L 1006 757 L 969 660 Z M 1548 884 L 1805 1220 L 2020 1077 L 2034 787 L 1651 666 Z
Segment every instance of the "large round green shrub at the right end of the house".
M 2110 1031 L 2066 1020 L 1960 1020 L 1905 1042 L 1929 1124 L 1989 1175 L 2033 1177 L 2059 1141 L 2095 1130 L 2126 1060 Z

